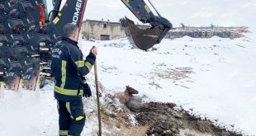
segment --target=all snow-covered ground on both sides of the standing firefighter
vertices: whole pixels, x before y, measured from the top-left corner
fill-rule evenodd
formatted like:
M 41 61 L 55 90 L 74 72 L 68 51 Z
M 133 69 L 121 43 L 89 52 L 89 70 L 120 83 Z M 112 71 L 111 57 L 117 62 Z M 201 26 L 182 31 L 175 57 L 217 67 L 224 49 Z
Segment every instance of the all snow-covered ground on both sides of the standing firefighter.
M 229 128 L 256 135 L 256 29 L 251 31 L 236 40 L 163 40 L 148 52 L 132 49 L 126 39 L 81 39 L 79 45 L 85 55 L 92 45 L 98 48 L 103 96 L 130 85 L 145 101 L 175 102 L 194 114 L 218 120 L 217 124 L 234 124 Z M 93 71 L 88 82 L 94 91 Z M 88 120 L 82 135 L 96 135 L 94 100 L 84 100 Z M 0 120 L 0 135 L 58 135 L 53 82 L 37 91 L 0 91 Z

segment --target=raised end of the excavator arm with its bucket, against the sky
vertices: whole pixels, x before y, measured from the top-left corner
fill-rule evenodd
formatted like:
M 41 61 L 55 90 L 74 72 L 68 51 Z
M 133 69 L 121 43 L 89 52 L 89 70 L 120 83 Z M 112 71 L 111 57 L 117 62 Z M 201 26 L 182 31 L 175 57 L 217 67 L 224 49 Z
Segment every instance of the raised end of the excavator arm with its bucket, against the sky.
M 148 0 L 152 7 L 154 5 Z M 130 43 L 137 46 L 139 49 L 147 50 L 156 44 L 159 44 L 168 31 L 172 29 L 173 25 L 163 16 L 160 16 L 159 12 L 154 7 L 158 16 L 150 10 L 145 1 L 140 0 L 121 0 L 126 7 L 130 9 L 141 22 L 149 23 L 151 28 L 141 29 L 135 26 L 134 21 L 131 21 L 127 17 L 121 19 L 121 25 L 126 29 L 126 35 L 128 36 Z

